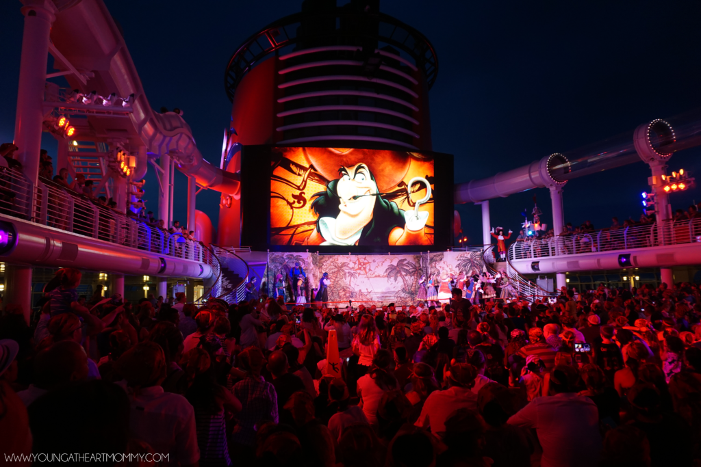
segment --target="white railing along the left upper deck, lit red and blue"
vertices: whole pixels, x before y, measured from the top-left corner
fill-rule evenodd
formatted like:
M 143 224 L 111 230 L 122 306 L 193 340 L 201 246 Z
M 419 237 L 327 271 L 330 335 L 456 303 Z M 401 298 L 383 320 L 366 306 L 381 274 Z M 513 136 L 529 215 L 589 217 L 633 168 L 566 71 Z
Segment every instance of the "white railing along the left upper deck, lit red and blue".
M 214 253 L 200 242 L 177 243 L 177 235 L 171 237 L 144 221 L 94 204 L 53 181 L 40 177 L 35 186 L 17 169 L 0 167 L 0 214 L 212 267 L 216 261 Z

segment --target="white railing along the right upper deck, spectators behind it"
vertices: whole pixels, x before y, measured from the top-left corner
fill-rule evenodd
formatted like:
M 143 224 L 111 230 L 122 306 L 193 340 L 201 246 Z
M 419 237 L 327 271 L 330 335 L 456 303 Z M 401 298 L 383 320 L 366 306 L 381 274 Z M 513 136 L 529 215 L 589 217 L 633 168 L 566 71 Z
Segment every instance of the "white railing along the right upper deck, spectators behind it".
M 701 243 L 701 217 L 528 239 L 512 243 L 508 256 L 509 260 L 524 260 L 688 243 Z

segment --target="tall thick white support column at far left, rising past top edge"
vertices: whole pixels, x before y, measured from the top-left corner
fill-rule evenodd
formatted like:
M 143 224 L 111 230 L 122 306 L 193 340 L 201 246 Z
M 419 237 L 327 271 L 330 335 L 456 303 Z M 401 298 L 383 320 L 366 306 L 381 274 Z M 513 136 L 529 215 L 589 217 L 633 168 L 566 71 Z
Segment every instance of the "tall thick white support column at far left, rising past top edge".
M 15 155 L 22 163 L 23 172 L 30 183 L 39 181 L 39 151 L 43 125 L 43 98 L 46 88 L 46 62 L 48 59 L 49 33 L 57 8 L 53 1 L 26 0 L 22 14 L 25 30 L 22 33 L 22 57 L 20 59 L 20 85 L 17 90 L 15 114 Z

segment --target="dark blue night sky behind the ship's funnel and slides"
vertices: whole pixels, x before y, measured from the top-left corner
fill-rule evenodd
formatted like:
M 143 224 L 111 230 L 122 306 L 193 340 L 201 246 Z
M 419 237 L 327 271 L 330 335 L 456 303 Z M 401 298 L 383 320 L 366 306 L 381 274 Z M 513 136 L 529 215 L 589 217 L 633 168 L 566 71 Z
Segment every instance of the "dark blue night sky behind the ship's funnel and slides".
M 339 0 L 339 4 L 346 3 Z M 231 103 L 224 67 L 248 36 L 296 13 L 297 0 L 106 0 L 121 25 L 154 109 L 184 111 L 200 151 L 219 165 Z M 435 151 L 455 155 L 455 182 L 490 176 L 606 139 L 653 118 L 701 106 L 698 1 L 382 0 L 381 11 L 416 27 L 439 59 L 430 91 Z M 20 66 L 20 2 L 0 2 L 0 142 L 11 141 Z M 50 60 L 53 63 L 53 59 Z M 107 90 L 107 92 L 111 92 Z M 55 155 L 53 137 L 43 147 Z M 674 155 L 701 176 L 701 150 Z M 585 176 L 564 190 L 566 221 L 607 227 L 611 216 L 639 218 L 649 169 L 642 162 Z M 149 210 L 158 185 L 149 168 Z M 701 179 L 700 179 L 701 181 Z M 178 191 L 180 193 L 178 193 Z M 176 178 L 175 218 L 184 220 L 186 179 Z M 491 202 L 493 225 L 517 231 L 520 212 L 538 197 L 551 223 L 546 189 Z M 672 196 L 674 209 L 701 201 L 699 188 Z M 218 193 L 198 195 L 217 225 Z M 480 209 L 458 208 L 470 244 L 482 242 Z

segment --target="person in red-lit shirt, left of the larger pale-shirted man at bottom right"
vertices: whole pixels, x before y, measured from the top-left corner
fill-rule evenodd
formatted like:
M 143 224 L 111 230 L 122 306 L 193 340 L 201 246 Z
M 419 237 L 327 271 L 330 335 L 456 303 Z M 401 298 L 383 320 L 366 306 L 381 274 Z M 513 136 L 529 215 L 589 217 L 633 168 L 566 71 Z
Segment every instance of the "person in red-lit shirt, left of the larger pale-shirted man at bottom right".
M 433 391 L 428 396 L 415 424 L 421 428 L 430 428 L 431 433 L 438 437 L 443 436 L 445 421 L 451 413 L 462 408 L 477 411 L 477 394 L 471 391 L 472 386 L 475 386 L 477 368 L 470 363 L 456 363 L 451 365 L 445 377 L 449 389 Z

